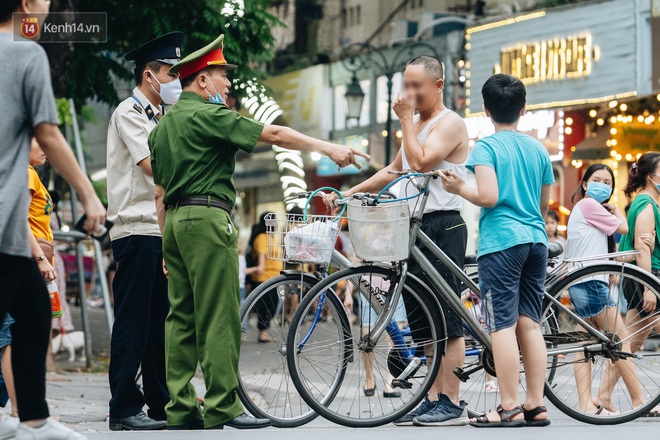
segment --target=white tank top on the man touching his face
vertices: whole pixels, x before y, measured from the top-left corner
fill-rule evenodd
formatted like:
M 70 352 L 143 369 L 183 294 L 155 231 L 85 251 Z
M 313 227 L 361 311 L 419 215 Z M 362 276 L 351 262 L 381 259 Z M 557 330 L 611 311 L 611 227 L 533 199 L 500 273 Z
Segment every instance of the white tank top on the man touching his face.
M 431 125 L 433 125 L 435 122 L 449 114 L 451 110 L 448 108 L 444 109 L 441 111 L 438 115 L 436 115 L 433 119 L 429 121 L 428 124 L 422 129 L 422 131 L 417 135 L 417 140 L 421 145 L 424 145 L 424 142 L 426 142 L 426 138 L 428 136 L 429 128 Z M 419 118 L 419 115 L 415 115 L 415 121 Z M 403 169 L 408 170 L 410 169 L 410 164 L 408 163 L 408 159 L 406 159 L 406 150 L 403 148 L 403 142 L 401 143 L 401 158 L 403 160 Z M 465 168 L 465 164 L 467 163 L 467 160 L 463 162 L 462 164 L 455 164 L 451 162 L 447 162 L 446 160 L 441 161 L 438 163 L 436 166 L 433 167 L 435 170 L 451 170 L 456 175 L 458 175 L 461 179 L 465 180 L 467 178 L 467 168 Z M 414 170 L 413 170 L 414 171 Z M 447 191 L 442 188 L 442 180 L 438 179 L 432 179 L 431 182 L 429 183 L 429 198 L 426 201 L 426 208 L 424 209 L 424 214 L 427 214 L 429 212 L 434 212 L 434 211 L 459 211 L 463 209 L 463 198 L 461 196 L 455 195 L 448 193 Z M 415 188 L 414 185 L 406 185 L 406 182 L 403 181 L 401 182 L 401 189 L 399 191 L 399 197 L 406 197 L 406 196 L 412 196 L 419 193 L 417 188 Z M 410 210 L 415 208 L 417 205 L 419 199 L 414 198 L 410 199 L 408 203 L 410 204 Z

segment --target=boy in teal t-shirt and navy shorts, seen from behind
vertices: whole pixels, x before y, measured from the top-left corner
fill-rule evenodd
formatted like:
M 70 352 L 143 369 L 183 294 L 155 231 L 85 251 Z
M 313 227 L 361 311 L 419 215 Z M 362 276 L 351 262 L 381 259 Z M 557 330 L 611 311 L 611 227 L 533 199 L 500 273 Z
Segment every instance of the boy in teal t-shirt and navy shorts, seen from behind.
M 510 75 L 493 75 L 482 88 L 495 134 L 479 140 L 467 168 L 471 188 L 454 173 L 441 174 L 444 188 L 480 206 L 479 281 L 482 313 L 492 343 L 501 405 L 474 419 L 476 427 L 546 426 L 543 406 L 547 365 L 541 306 L 548 261 L 545 215 L 554 181 L 550 156 L 537 140 L 517 131 L 525 113 L 525 86 Z M 518 346 L 527 382 L 518 397 Z

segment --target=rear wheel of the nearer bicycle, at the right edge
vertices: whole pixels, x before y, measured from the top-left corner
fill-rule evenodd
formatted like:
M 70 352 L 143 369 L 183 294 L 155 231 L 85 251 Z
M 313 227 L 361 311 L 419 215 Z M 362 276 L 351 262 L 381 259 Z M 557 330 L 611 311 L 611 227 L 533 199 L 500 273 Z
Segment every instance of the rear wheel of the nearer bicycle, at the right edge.
M 545 392 L 565 414 L 585 423 L 618 424 L 660 403 L 660 355 L 643 347 L 644 338 L 660 327 L 660 310 L 642 316 L 626 305 L 626 297 L 644 288 L 660 304 L 657 278 L 614 262 L 585 266 L 548 286 L 543 323 L 552 331 L 545 335 Z

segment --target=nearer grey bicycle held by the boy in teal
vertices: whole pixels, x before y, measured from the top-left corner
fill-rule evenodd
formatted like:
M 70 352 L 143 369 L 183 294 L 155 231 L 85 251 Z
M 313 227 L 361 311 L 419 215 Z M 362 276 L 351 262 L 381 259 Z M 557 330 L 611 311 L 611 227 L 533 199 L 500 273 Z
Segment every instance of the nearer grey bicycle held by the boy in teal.
M 454 264 L 440 250 L 431 239 L 420 230 L 421 214 L 428 197 L 428 183 L 437 178 L 437 171 L 429 173 L 399 173 L 401 179 L 418 179 L 421 183 L 417 185 L 420 200 L 419 209 L 414 212 L 409 228 L 409 241 L 404 244 L 409 257 L 399 261 L 380 263 L 369 262 L 362 266 L 343 269 L 325 278 L 316 284 L 301 300 L 291 322 L 287 341 L 287 361 L 291 379 L 307 404 L 323 417 L 335 423 L 351 427 L 378 426 L 396 420 L 410 411 L 428 392 L 431 382 L 430 377 L 435 377 L 439 367 L 440 356 L 443 353 L 445 342 L 444 318 L 442 308 L 434 295 L 415 295 L 404 288 L 405 280 L 410 275 L 407 273 L 408 258 L 414 259 L 427 275 L 434 291 L 446 301 L 457 313 L 472 338 L 478 344 L 476 354 L 478 362 L 471 369 L 459 369 L 456 374 L 462 380 L 467 381 L 471 374 L 477 371 L 485 371 L 496 376 L 494 362 L 492 359 L 492 348 L 490 338 L 486 334 L 481 323 L 475 319 L 473 314 L 463 306 L 459 297 L 454 293 L 445 280 L 440 276 L 433 265 L 428 261 L 420 249 L 420 245 L 426 247 L 445 267 L 447 267 L 467 289 L 479 292 L 479 288 L 463 270 Z M 391 184 L 390 184 L 391 185 Z M 387 188 L 386 188 L 387 189 Z M 383 191 L 385 191 L 384 189 Z M 382 194 L 382 193 L 381 193 Z M 380 195 L 357 194 L 354 200 L 361 205 L 371 206 L 378 209 Z M 381 203 L 384 205 L 384 203 Z M 353 226 L 350 224 L 351 206 L 349 205 L 349 226 L 353 236 Z M 354 244 L 355 246 L 355 244 Z M 357 249 L 356 249 L 357 251 Z M 617 254 L 616 256 L 623 256 Z M 569 263 L 573 266 L 569 267 Z M 566 394 L 570 381 L 566 380 L 566 365 L 572 364 L 575 353 L 588 353 L 589 359 L 603 357 L 616 361 L 618 359 L 642 359 L 653 362 L 650 356 L 633 354 L 621 349 L 620 338 L 616 335 L 608 336 L 579 318 L 569 306 L 562 304 L 557 296 L 566 287 L 577 285 L 594 276 L 610 274 L 626 277 L 655 292 L 660 299 L 658 291 L 660 284 L 658 279 L 645 273 L 636 266 L 620 262 L 599 262 L 599 264 L 585 264 L 582 261 L 573 261 L 562 264 L 552 272 L 549 278 L 546 293 L 544 295 L 544 314 L 542 330 L 545 334 L 546 344 L 549 347 L 549 368 L 546 377 L 546 394 L 548 398 L 563 412 L 571 417 L 589 423 L 621 423 L 638 417 L 660 401 L 660 378 L 656 380 L 650 373 L 653 369 L 646 366 L 645 389 L 647 399 L 639 406 L 630 405 L 620 415 L 604 417 L 603 413 L 588 414 L 575 409 L 575 394 Z M 386 292 L 378 292 L 374 295 L 374 279 L 377 283 L 388 282 Z M 368 280 L 368 282 L 363 282 Z M 378 281 L 380 280 L 380 281 Z M 402 282 L 403 281 L 403 282 Z M 322 319 L 327 298 L 333 298 L 339 283 L 351 283 L 359 291 L 365 301 L 377 311 L 377 320 L 365 332 L 353 332 L 350 326 L 342 324 L 341 320 L 326 322 Z M 424 285 L 424 283 L 420 283 Z M 428 287 L 422 288 L 422 292 L 428 292 Z M 391 322 L 400 296 L 404 297 L 404 303 L 409 319 L 416 316 L 408 310 L 408 303 L 412 300 L 413 305 L 423 310 L 419 316 L 419 322 L 409 322 L 413 330 L 412 340 L 404 345 L 390 346 L 383 343 L 382 338 L 386 327 Z M 380 298 L 380 300 L 378 300 Z M 333 307 L 333 302 L 327 302 L 328 307 Z M 313 306 L 313 307 L 312 307 Z M 340 311 L 334 310 L 333 313 Z M 562 316 L 559 316 L 562 315 Z M 579 323 L 584 331 L 576 335 L 575 331 L 566 331 L 566 320 Z M 420 332 L 420 322 L 426 328 Z M 589 337 L 586 337 L 589 335 Z M 628 337 L 628 336 L 626 336 Z M 398 353 L 402 350 L 422 350 L 426 357 L 415 371 L 408 377 L 402 378 L 405 382 L 402 386 L 407 393 L 398 400 L 397 404 L 383 399 L 365 399 L 359 394 L 359 384 L 362 382 L 360 359 L 365 353 L 373 353 L 374 364 L 380 368 L 379 375 L 386 378 L 388 374 L 394 374 L 393 364 L 397 364 Z M 421 358 L 421 357 L 420 357 Z M 569 359 L 570 358 L 570 359 Z M 570 360 L 570 362 L 569 362 Z M 570 376 L 570 375 L 569 375 Z M 570 376 L 574 381 L 574 377 Z M 559 385 L 562 386 L 559 386 Z M 524 384 L 523 384 L 524 385 Z M 622 407 L 623 409 L 623 407 Z

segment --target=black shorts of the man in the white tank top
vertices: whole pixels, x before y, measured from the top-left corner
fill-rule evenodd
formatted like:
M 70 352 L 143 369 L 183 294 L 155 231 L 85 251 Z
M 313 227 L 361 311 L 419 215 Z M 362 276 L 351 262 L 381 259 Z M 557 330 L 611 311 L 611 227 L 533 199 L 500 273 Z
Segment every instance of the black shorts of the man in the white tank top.
M 422 217 L 421 230 L 428 235 L 429 238 L 433 240 L 433 242 L 435 242 L 435 244 L 438 245 L 438 247 L 442 249 L 442 251 L 447 254 L 447 256 L 456 263 L 458 267 L 461 269 L 463 268 L 465 249 L 467 247 L 467 226 L 459 211 L 434 211 L 424 214 Z M 418 245 L 421 247 L 424 256 L 428 258 L 438 273 L 442 275 L 445 281 L 447 281 L 449 287 L 451 287 L 456 293 L 456 296 L 460 298 L 460 281 L 440 262 L 440 260 L 435 258 L 431 251 L 422 247 L 420 243 L 418 243 Z M 450 338 L 463 337 L 463 321 L 461 320 L 461 317 L 454 312 L 438 292 L 435 292 L 435 289 L 432 287 L 433 285 L 422 271 L 422 268 L 419 267 L 416 261 L 411 260 L 408 270 L 434 290 L 445 314 L 447 336 Z M 406 296 L 404 296 L 403 299 L 406 301 Z M 413 339 L 417 341 L 429 339 L 430 335 L 426 318 L 419 316 L 421 311 L 419 308 L 415 307 L 414 304 L 408 304 L 409 301 L 411 301 L 410 298 L 406 301 L 406 310 L 409 311 L 408 322 L 410 323 L 410 330 Z M 415 313 L 415 311 L 417 311 L 417 313 Z

